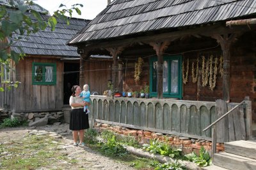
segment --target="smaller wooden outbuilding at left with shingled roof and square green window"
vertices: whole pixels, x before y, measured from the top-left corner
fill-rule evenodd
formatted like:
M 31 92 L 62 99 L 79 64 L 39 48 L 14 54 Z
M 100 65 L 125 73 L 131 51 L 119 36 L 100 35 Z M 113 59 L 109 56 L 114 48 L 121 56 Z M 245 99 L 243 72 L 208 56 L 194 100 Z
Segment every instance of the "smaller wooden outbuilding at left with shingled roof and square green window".
M 44 8 L 30 8 L 39 11 L 45 20 L 49 17 L 44 14 Z M 54 31 L 47 27 L 44 31 L 23 36 L 11 46 L 15 52 L 20 52 L 21 48 L 26 57 L 18 64 L 11 61 L 11 71 L 1 77 L 1 87 L 6 88 L 6 80 L 20 81 L 20 84 L 17 89 L 12 87 L 0 92 L 0 106 L 20 113 L 58 111 L 68 104 L 72 85 L 79 83 L 79 54 L 77 48 L 66 43 L 89 21 L 70 18 L 69 25 L 59 21 Z

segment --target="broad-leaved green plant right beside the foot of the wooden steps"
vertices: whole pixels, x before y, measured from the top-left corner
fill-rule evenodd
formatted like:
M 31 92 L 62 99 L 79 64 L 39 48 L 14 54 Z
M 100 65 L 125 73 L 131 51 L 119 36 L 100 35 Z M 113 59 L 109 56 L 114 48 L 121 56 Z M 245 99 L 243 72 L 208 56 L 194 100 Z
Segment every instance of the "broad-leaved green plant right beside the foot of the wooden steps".
M 201 147 L 201 149 L 199 151 L 199 156 L 197 156 L 193 152 L 193 153 L 189 153 L 189 154 L 185 155 L 185 157 L 189 161 L 195 162 L 196 165 L 200 166 L 200 167 L 209 166 L 212 163 L 212 160 L 211 160 L 211 157 L 210 157 L 209 153 L 205 150 L 205 148 L 203 146 Z

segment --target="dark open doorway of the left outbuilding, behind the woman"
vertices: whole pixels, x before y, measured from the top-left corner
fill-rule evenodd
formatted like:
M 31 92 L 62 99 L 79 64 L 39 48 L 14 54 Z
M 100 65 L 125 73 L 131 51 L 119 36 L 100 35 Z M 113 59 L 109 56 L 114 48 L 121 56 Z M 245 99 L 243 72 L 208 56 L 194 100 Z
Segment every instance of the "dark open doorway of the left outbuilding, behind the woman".
M 79 85 L 79 66 L 79 63 L 64 63 L 63 104 L 69 104 L 69 98 L 72 95 L 72 86 Z

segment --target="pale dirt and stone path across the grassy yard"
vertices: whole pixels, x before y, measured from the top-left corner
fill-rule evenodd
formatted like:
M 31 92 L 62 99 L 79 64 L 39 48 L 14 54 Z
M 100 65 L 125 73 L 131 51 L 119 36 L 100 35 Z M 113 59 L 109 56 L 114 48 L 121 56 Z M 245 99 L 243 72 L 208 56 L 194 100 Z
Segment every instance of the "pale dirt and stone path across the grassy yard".
M 116 160 L 104 157 L 88 147 L 73 146 L 72 132 L 68 129 L 68 124 L 47 125 L 45 127 L 19 127 L 0 129 L 0 145 L 9 141 L 19 142 L 26 134 L 46 135 L 51 134 L 54 138 L 60 138 L 60 152 L 67 155 L 69 159 L 79 160 L 76 164 L 70 164 L 65 161 L 56 162 L 56 164 L 39 169 L 122 169 L 132 170 L 134 168 Z M 1 160 L 1 157 L 0 157 Z

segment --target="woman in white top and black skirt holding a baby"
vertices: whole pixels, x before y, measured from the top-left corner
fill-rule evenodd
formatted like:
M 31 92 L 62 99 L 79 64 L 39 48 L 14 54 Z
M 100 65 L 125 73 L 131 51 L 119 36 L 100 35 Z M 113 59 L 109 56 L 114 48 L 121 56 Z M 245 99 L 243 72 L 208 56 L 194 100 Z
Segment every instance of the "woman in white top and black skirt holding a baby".
M 89 106 L 90 103 L 86 103 L 83 101 L 83 98 L 80 97 L 81 88 L 78 85 L 74 85 L 72 87 L 72 96 L 69 99 L 69 105 L 71 106 L 72 110 L 70 112 L 70 122 L 69 122 L 69 129 L 73 131 L 73 139 L 74 139 L 74 146 L 85 146 L 83 139 L 84 139 L 84 129 L 89 128 L 89 119 L 88 114 L 84 112 L 84 106 Z M 80 143 L 77 144 L 77 136 L 79 133 L 79 141 Z

